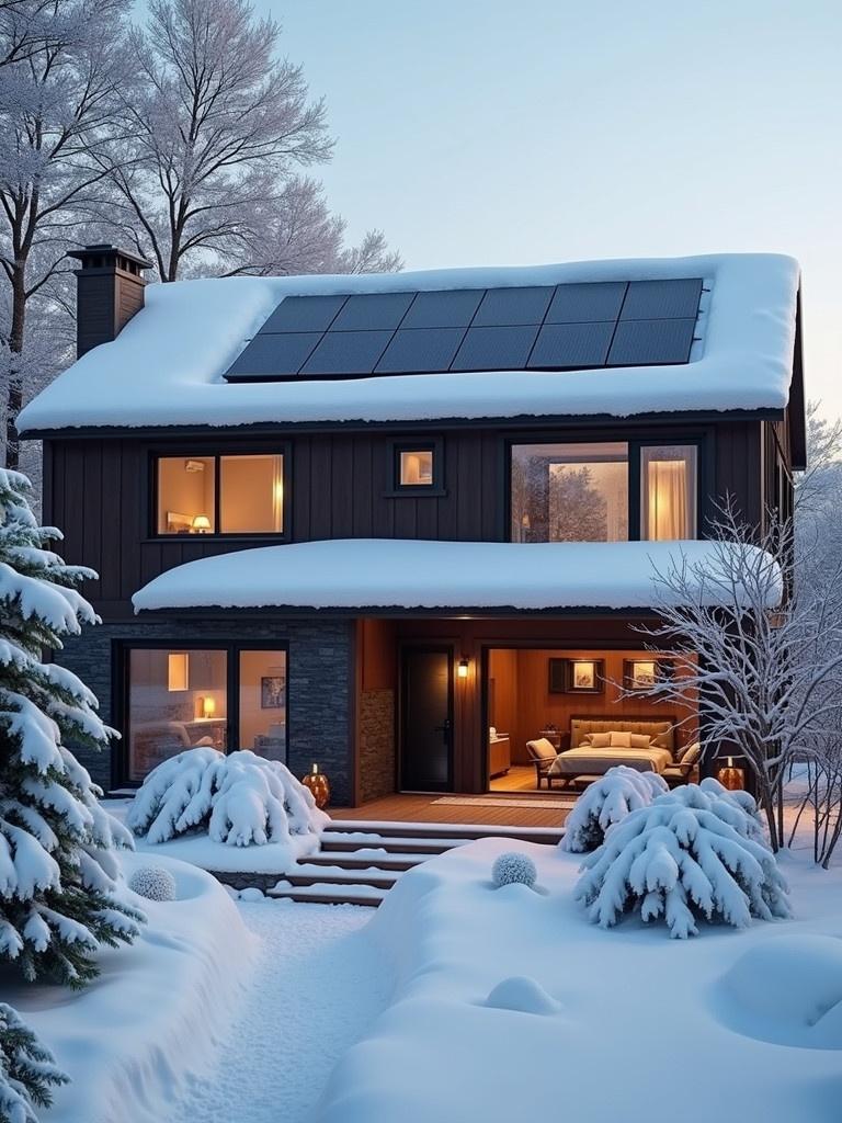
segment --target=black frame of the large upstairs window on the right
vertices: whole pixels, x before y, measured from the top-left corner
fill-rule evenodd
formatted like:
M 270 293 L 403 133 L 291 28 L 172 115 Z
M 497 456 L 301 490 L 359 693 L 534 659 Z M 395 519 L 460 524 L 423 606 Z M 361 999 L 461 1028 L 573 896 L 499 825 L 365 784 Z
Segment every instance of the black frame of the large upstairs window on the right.
M 713 480 L 711 471 L 711 437 L 698 429 L 685 431 L 658 431 L 647 429 L 637 433 L 626 432 L 622 427 L 613 429 L 576 429 L 518 432 L 503 438 L 502 471 L 505 500 L 500 538 L 511 542 L 512 538 L 512 449 L 515 445 L 602 445 L 623 441 L 629 447 L 629 538 L 630 542 L 649 541 L 641 537 L 641 465 L 642 449 L 675 446 L 693 446 L 696 449 L 696 540 L 706 537 L 705 528 L 712 517 Z M 530 544 L 522 544 L 530 545 Z

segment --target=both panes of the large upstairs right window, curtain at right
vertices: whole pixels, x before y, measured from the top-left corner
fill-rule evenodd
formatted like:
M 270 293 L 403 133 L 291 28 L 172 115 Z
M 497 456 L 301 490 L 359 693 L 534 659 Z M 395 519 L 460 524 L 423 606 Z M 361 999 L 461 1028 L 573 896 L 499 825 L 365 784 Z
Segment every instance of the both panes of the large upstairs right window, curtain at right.
M 697 446 L 690 444 L 513 445 L 511 539 L 695 538 L 697 460 Z

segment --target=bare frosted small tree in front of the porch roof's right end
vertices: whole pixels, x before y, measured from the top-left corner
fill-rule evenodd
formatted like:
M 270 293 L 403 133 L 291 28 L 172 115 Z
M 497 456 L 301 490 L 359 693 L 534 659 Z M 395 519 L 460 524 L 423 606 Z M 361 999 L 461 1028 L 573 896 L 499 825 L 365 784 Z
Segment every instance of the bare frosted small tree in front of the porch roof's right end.
M 659 620 L 638 629 L 671 651 L 675 673 L 644 691 L 693 712 L 704 742 L 739 755 L 753 774 L 774 850 L 782 842 L 780 797 L 790 764 L 842 714 L 842 555 L 825 555 L 813 582 L 798 579 L 791 522 L 748 527 L 726 504 L 712 551 L 680 547 L 655 577 Z M 798 565 L 804 565 L 798 551 Z

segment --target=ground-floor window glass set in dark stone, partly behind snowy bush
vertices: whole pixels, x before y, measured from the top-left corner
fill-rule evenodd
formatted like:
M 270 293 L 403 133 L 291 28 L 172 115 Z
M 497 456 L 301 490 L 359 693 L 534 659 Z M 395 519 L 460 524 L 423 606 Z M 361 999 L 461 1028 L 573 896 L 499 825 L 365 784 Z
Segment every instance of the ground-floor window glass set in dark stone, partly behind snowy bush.
M 134 647 L 126 663 L 127 779 L 200 746 L 286 760 L 285 650 Z

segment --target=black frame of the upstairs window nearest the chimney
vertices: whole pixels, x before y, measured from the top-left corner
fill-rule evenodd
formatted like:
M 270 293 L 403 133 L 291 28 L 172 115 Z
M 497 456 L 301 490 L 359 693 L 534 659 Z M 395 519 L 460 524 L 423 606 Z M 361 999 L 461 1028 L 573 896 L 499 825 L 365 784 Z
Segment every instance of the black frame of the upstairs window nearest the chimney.
M 222 472 L 222 457 L 231 456 L 281 456 L 283 458 L 283 487 L 284 487 L 284 504 L 283 504 L 283 526 L 280 531 L 277 530 L 253 530 L 253 531 L 234 531 L 225 532 L 219 529 L 221 520 L 221 472 Z M 161 485 L 161 473 L 159 473 L 159 462 L 166 459 L 213 459 L 213 530 L 209 530 L 202 535 L 167 535 L 158 530 L 158 487 Z M 149 449 L 149 462 L 148 462 L 148 474 L 147 478 L 149 481 L 149 503 L 148 503 L 148 540 L 154 540 L 156 542 L 172 542 L 179 541 L 184 542 L 185 539 L 190 539 L 191 542 L 195 541 L 254 541 L 259 539 L 268 539 L 274 542 L 289 541 L 292 537 L 292 492 L 291 492 L 291 478 L 292 478 L 292 447 L 289 441 L 273 441 L 272 444 L 260 442 L 259 445 L 246 446 L 241 444 L 238 445 L 219 445 L 214 444 L 212 446 L 207 445 L 179 445 L 173 448 L 172 446 L 159 446 Z

